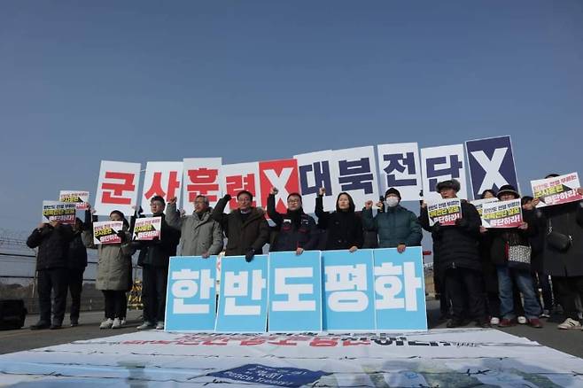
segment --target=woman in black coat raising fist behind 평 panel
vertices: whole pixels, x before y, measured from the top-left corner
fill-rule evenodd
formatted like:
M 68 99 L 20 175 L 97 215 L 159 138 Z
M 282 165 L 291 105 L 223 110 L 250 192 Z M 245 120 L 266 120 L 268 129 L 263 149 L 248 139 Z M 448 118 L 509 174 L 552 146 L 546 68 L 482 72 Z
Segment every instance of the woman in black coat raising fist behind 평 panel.
M 363 229 L 361 217 L 354 213 L 354 201 L 347 192 L 336 198 L 336 211 L 324 212 L 323 196 L 326 189 L 321 187 L 315 198 L 315 215 L 318 227 L 326 230 L 324 250 L 347 249 L 354 252 L 362 247 Z

